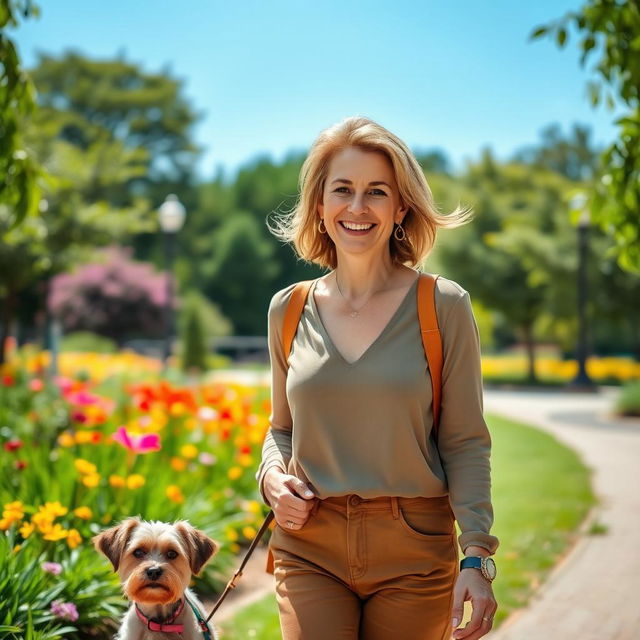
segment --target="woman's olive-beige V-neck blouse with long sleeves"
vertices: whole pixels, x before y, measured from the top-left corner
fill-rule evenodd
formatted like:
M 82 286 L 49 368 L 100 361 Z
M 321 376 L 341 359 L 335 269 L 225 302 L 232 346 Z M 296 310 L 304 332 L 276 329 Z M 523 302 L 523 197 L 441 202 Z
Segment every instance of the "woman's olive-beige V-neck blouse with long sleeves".
M 274 294 L 268 313 L 272 412 L 256 479 L 267 504 L 262 483 L 270 467 L 307 482 L 320 498 L 448 494 L 462 551 L 478 545 L 494 554 L 499 540 L 489 533 L 491 437 L 483 417 L 480 341 L 469 294 L 453 280 L 437 280 L 444 367 L 436 447 L 417 282 L 353 363 L 324 328 L 314 283 L 287 367 L 282 322 L 294 284 Z

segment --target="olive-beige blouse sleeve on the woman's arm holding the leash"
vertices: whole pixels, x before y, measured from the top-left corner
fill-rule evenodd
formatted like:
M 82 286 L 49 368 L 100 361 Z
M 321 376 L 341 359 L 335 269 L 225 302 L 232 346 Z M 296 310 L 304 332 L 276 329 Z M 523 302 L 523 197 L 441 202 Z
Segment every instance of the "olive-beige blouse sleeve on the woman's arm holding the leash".
M 282 322 L 286 303 L 294 285 L 278 291 L 271 298 L 268 312 L 268 345 L 271 362 L 271 415 L 262 446 L 262 460 L 256 472 L 256 480 L 265 504 L 269 504 L 264 493 L 265 473 L 271 467 L 286 472 L 291 460 L 291 428 L 293 421 L 286 395 L 287 363 L 282 350 Z

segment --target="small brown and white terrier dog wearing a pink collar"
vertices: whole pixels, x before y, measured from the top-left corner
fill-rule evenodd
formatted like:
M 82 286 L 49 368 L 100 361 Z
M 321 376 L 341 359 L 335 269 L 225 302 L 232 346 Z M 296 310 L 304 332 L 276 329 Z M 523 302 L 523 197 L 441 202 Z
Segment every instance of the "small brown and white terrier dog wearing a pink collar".
M 188 588 L 191 576 L 218 550 L 207 535 L 186 520 L 168 524 L 133 517 L 92 540 L 133 603 L 115 640 L 217 640 L 202 603 Z

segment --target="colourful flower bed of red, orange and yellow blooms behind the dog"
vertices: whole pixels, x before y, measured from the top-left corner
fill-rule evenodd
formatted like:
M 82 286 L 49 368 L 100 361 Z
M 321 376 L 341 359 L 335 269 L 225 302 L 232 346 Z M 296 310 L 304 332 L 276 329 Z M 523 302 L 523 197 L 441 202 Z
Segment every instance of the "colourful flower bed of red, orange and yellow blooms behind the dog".
M 130 515 L 219 541 L 195 584 L 219 589 L 266 512 L 254 473 L 268 390 L 175 385 L 153 368 L 135 381 L 131 366 L 92 378 L 87 362 L 82 379 L 49 381 L 32 356 L 0 369 L 0 637 L 105 637 L 126 603 L 91 537 Z

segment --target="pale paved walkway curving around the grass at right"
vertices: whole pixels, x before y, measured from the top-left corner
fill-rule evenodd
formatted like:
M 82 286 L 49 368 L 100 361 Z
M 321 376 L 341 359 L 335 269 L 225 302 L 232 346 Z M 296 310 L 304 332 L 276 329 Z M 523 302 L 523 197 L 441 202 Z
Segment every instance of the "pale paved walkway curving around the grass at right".
M 485 410 L 553 434 L 593 469 L 592 517 L 608 527 L 582 536 L 529 606 L 487 640 L 640 638 L 640 421 L 609 413 L 615 393 L 485 392 Z

